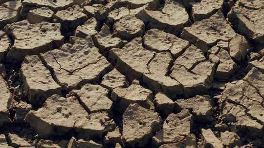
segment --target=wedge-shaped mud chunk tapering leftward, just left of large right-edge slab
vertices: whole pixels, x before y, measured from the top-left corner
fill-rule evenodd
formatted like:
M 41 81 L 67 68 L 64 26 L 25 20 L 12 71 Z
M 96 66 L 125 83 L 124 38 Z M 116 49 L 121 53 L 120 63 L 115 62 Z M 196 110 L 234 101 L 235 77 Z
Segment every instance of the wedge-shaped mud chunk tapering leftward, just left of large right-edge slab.
M 189 109 L 193 112 L 199 122 L 207 122 L 213 120 L 213 108 L 210 101 L 210 96 L 195 96 L 186 100 L 176 100 L 176 105 L 181 109 Z

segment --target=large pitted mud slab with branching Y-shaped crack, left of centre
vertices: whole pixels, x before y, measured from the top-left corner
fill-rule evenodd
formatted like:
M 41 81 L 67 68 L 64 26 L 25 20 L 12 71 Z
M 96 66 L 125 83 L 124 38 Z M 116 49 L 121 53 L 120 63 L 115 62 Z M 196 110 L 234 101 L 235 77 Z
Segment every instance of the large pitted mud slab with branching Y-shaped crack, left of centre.
M 91 37 L 71 37 L 60 49 L 41 54 L 42 60 L 62 86 L 74 89 L 85 83 L 99 82 L 100 76 L 112 69 L 94 47 Z

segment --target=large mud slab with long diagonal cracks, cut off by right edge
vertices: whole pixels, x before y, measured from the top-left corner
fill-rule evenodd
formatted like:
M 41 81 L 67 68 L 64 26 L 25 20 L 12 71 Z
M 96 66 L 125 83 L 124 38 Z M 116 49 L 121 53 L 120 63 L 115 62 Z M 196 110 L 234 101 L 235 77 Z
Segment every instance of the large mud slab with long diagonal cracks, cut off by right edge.
M 264 74 L 256 68 L 242 79 L 227 83 L 219 96 L 221 121 L 242 137 L 261 138 L 264 123 Z

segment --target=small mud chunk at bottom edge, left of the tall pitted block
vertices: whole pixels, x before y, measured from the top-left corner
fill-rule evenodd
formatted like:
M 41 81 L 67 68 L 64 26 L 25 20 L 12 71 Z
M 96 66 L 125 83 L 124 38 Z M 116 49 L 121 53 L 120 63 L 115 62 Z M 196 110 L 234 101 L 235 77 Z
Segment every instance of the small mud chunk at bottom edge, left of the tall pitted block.
M 106 144 L 118 144 L 122 143 L 121 133 L 118 127 L 114 129 L 114 131 L 108 132 L 104 138 Z

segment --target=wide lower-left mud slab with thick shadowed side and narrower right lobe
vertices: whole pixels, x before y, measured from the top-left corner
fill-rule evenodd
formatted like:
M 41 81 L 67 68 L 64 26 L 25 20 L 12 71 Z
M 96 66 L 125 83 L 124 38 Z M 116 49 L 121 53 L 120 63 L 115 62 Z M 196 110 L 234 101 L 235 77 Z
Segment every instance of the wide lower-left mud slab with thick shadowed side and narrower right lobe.
M 52 95 L 45 106 L 38 111 L 30 111 L 25 118 L 41 137 L 63 135 L 75 130 L 79 138 L 102 138 L 114 128 L 114 122 L 107 112 L 88 114 L 76 97 L 68 98 Z

